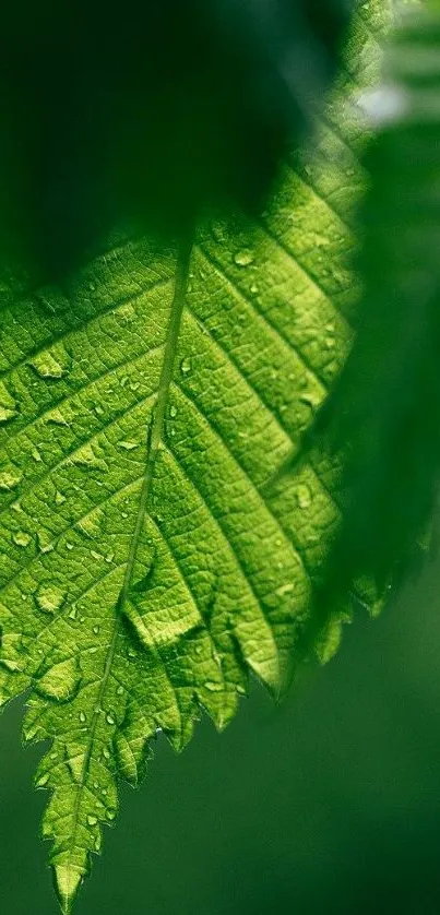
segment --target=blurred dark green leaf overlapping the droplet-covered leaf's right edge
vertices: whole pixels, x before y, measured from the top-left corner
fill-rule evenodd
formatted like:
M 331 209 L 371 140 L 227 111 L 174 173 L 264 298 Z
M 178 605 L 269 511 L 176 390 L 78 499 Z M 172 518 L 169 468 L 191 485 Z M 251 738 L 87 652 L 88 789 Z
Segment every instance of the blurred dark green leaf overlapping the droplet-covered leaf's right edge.
M 356 270 L 356 341 L 311 430 L 343 453 L 344 524 L 329 582 L 380 586 L 411 568 L 440 470 L 440 16 L 407 10 L 365 98 L 376 127 Z M 347 448 L 348 445 L 348 448 Z

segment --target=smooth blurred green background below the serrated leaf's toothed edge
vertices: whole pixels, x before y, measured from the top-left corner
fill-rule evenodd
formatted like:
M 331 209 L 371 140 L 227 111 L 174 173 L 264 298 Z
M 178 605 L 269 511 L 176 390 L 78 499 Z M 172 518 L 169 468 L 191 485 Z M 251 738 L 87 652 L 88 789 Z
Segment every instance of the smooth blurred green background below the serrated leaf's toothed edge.
M 224 735 L 204 721 L 180 757 L 159 739 L 76 915 L 439 913 L 439 584 L 431 562 L 358 614 L 282 706 L 254 685 Z M 56 915 L 21 714 L 0 722 L 1 911 Z

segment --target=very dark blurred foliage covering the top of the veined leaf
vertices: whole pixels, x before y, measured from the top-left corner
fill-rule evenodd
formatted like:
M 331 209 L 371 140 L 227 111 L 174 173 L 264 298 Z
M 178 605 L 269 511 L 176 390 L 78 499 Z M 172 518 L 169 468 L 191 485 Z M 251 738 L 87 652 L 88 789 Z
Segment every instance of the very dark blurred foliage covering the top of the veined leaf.
M 353 0 L 8 2 L 0 249 L 62 278 L 127 222 L 255 212 L 310 128 Z

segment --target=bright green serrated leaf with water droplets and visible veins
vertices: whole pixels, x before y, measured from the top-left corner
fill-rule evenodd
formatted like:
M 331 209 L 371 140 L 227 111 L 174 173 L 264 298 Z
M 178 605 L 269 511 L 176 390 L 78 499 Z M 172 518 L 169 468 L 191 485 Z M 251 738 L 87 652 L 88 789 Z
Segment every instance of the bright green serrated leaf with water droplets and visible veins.
M 382 9 L 359 10 L 341 94 L 377 59 Z M 36 784 L 64 912 L 157 729 L 181 749 L 201 710 L 225 727 L 249 670 L 276 694 L 292 677 L 334 468 L 264 487 L 352 338 L 364 181 L 357 124 L 336 102 L 328 119 L 258 224 L 180 252 L 116 239 L 62 288 L 4 278 L 0 688 L 31 691 L 25 739 L 50 740 Z

